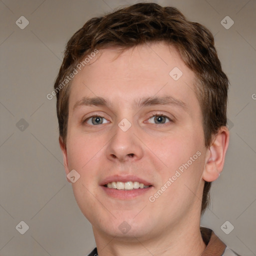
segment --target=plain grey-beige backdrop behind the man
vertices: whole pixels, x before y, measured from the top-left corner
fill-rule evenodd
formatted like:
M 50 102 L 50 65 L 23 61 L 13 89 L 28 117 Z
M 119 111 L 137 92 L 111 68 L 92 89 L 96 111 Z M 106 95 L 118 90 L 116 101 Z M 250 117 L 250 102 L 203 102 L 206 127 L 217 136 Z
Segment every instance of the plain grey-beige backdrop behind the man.
M 68 38 L 89 18 L 135 2 L 0 1 L 0 255 L 78 256 L 95 246 L 90 223 L 66 181 L 55 98 L 48 100 L 46 94 L 52 91 Z M 236 252 L 256 255 L 256 1 L 154 2 L 179 8 L 215 37 L 230 81 L 230 144 L 201 225 Z M 29 21 L 24 29 L 15 24 L 22 15 Z M 220 23 L 226 15 L 234 21 L 229 29 Z M 24 234 L 15 228 L 21 220 L 29 226 Z M 220 228 L 226 220 L 234 226 L 229 234 Z

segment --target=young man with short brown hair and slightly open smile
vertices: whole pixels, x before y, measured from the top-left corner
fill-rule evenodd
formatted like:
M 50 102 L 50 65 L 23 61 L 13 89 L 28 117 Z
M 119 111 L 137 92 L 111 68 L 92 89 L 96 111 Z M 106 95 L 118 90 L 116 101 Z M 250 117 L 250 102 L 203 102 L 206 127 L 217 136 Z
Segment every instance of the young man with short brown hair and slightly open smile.
M 237 255 L 200 227 L 228 146 L 227 88 L 212 34 L 173 7 L 137 3 L 70 38 L 54 92 L 89 255 Z

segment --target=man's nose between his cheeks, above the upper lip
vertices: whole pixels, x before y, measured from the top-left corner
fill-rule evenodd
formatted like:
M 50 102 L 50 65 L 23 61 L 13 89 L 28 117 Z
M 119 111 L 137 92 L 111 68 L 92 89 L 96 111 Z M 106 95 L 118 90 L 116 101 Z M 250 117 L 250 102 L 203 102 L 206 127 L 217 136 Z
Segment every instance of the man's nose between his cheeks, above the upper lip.
M 118 125 L 114 127 L 114 135 L 110 139 L 106 147 L 106 156 L 111 161 L 136 161 L 143 155 L 141 141 L 134 134 L 133 125 L 126 131 Z

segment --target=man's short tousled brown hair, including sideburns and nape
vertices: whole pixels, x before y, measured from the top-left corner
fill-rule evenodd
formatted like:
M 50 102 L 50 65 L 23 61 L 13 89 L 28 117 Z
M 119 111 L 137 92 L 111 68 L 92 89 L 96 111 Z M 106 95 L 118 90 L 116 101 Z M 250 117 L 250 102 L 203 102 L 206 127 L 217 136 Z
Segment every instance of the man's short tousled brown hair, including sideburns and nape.
M 211 32 L 203 25 L 187 20 L 174 7 L 156 3 L 137 3 L 88 20 L 66 45 L 62 65 L 54 83 L 57 97 L 59 135 L 66 142 L 68 97 L 71 81 L 59 89 L 65 77 L 81 58 L 95 48 L 109 46 L 127 49 L 143 43 L 164 41 L 173 45 L 184 63 L 195 73 L 196 95 L 203 116 L 205 146 L 212 134 L 226 125 L 228 79 L 214 47 Z M 211 182 L 205 181 L 201 214 L 209 202 Z

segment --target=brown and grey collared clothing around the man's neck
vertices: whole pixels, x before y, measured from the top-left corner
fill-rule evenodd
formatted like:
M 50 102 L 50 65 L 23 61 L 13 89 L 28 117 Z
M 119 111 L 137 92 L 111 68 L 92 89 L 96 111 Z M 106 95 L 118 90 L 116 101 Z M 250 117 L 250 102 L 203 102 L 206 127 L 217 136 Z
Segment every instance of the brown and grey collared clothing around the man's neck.
M 239 256 L 233 250 L 228 248 L 216 235 L 215 233 L 207 228 L 200 226 L 200 232 L 202 240 L 206 245 L 205 250 L 201 256 Z M 97 248 L 94 248 L 86 256 L 97 256 Z

